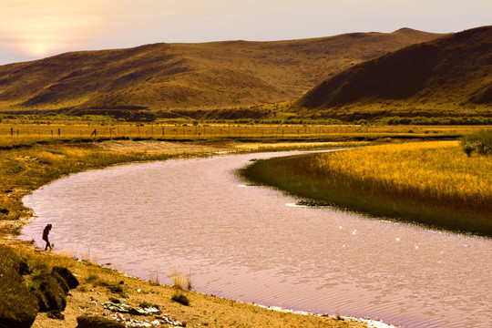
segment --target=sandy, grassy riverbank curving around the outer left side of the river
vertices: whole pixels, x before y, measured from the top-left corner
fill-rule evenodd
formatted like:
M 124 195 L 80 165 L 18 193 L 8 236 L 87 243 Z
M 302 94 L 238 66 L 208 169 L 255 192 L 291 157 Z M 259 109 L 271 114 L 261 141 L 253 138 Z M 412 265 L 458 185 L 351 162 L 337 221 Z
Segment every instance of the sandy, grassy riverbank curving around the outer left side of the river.
M 349 146 L 361 145 L 352 143 Z M 90 260 L 77 261 L 71 254 L 36 251 L 32 245 L 15 239 L 20 228 L 31 220 L 31 213 L 22 205 L 22 198 L 41 186 L 64 175 L 86 169 L 97 169 L 109 165 L 169 159 L 176 157 L 209 156 L 227 152 L 251 152 L 286 149 L 327 149 L 346 145 L 339 143 L 244 143 L 235 141 L 158 142 L 158 141 L 103 141 L 82 143 L 34 144 L 1 150 L 0 160 L 0 211 L 2 219 L 1 242 L 9 245 L 30 262 L 41 261 L 52 267 L 63 265 L 77 274 L 81 286 L 71 291 L 67 299 L 65 319 L 48 318 L 39 313 L 33 327 L 75 327 L 77 316 L 82 314 L 104 314 L 100 303 L 118 299 L 131 305 L 141 302 L 157 304 L 173 320 L 187 326 L 212 327 L 366 327 L 368 323 L 341 317 L 302 315 L 299 313 L 274 312 L 251 304 L 220 299 L 196 292 L 186 292 L 190 306 L 170 300 L 176 292 L 169 286 L 141 281 L 125 276 Z M 123 283 L 120 283 L 123 282 Z M 120 285 L 120 289 L 108 286 Z M 125 300 L 125 301 L 123 301 Z M 145 319 L 145 318 L 143 318 Z

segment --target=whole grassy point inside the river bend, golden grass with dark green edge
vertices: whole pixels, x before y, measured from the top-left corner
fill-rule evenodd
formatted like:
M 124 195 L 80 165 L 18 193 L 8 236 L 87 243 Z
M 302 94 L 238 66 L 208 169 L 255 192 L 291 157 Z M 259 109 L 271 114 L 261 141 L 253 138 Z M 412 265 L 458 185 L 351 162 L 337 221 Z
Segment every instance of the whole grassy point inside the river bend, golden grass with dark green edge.
M 457 141 L 270 159 L 244 174 L 343 209 L 492 236 L 492 160 L 468 158 Z

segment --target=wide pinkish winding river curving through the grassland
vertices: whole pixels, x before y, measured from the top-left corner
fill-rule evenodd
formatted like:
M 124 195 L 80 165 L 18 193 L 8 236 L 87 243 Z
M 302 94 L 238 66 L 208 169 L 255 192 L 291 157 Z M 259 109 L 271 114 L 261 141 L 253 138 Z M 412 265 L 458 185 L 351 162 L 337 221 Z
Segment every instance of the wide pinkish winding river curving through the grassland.
M 70 175 L 24 199 L 21 238 L 98 258 L 143 279 L 243 302 L 381 319 L 404 327 L 492 327 L 492 240 L 333 210 L 244 186 L 251 159 L 171 159 Z M 86 255 L 83 255 L 86 254 Z

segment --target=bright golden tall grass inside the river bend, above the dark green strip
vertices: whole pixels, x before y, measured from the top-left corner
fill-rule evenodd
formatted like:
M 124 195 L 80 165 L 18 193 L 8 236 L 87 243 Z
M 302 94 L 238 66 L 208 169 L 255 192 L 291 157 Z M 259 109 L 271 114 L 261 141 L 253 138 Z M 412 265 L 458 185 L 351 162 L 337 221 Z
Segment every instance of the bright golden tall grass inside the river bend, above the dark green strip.
M 372 194 L 492 210 L 492 161 L 468 159 L 456 141 L 407 143 L 317 155 L 315 175 L 354 184 Z

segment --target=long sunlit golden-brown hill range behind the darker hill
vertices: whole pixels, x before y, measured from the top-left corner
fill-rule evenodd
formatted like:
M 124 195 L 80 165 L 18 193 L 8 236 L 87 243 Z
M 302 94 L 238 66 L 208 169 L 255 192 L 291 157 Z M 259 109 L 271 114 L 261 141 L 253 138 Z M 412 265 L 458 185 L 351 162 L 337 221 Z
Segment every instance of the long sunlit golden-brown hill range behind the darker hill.
M 0 110 L 217 108 L 301 97 L 327 77 L 436 34 L 403 28 L 276 42 L 154 44 L 0 67 Z

